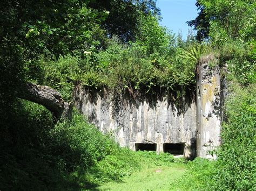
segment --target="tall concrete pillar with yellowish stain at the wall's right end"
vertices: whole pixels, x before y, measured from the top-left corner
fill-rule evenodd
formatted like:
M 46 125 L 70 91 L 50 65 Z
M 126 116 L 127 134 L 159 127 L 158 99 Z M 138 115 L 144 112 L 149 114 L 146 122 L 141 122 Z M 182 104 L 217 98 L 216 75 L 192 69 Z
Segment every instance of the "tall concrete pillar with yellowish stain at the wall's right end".
M 197 157 L 215 158 L 208 151 L 220 145 L 220 69 L 209 67 L 212 55 L 201 58 L 197 68 Z

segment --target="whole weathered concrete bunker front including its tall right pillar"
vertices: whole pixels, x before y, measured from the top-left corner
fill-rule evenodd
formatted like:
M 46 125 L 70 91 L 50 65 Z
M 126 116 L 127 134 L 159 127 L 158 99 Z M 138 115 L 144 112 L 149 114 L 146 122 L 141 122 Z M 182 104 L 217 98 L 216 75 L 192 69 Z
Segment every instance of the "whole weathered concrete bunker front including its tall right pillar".
M 156 95 L 134 96 L 77 86 L 76 108 L 101 132 L 112 132 L 120 146 L 133 151 L 215 158 L 208 151 L 220 145 L 225 90 L 220 86 L 218 65 L 209 67 L 214 59 L 213 55 L 200 59 L 196 89 L 186 89 L 178 102 L 173 99 L 176 92 L 156 89 Z

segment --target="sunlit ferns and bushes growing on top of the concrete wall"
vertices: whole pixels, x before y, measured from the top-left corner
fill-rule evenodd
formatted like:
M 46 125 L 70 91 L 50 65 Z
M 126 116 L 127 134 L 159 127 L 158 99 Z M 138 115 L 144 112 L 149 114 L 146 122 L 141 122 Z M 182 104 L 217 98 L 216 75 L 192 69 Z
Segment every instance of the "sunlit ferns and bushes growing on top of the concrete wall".
M 70 98 L 72 83 L 95 89 L 128 90 L 131 94 L 134 91 L 154 93 L 154 89 L 158 88 L 173 91 L 193 86 L 196 60 L 191 56 L 184 58 L 185 50 L 175 45 L 176 38 L 159 26 L 156 19 L 150 17 L 149 20 L 163 31 L 152 33 L 152 39 L 148 41 L 142 40 L 147 36 L 142 34 L 135 43 L 123 45 L 114 36 L 107 41 L 106 49 L 98 53 L 86 52 L 82 60 L 65 58 L 57 62 L 44 61 L 41 64 L 46 79 L 44 84 L 58 89 L 65 98 Z M 142 28 L 146 31 L 149 26 L 151 24 Z M 153 42 L 156 43 L 153 45 Z M 205 49 L 205 45 L 198 46 L 196 56 L 203 54 Z M 190 55 L 193 56 L 193 53 Z

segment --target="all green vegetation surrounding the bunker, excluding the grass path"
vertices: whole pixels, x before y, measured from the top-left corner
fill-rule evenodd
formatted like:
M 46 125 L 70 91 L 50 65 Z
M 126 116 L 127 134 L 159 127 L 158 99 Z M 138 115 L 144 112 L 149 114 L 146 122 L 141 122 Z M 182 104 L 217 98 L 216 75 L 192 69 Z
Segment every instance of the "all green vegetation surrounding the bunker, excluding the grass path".
M 194 89 L 194 69 L 214 54 L 226 80 L 217 161 L 196 159 L 170 189 L 255 190 L 255 1 L 198 0 L 182 40 L 159 25 L 155 1 L 3 1 L 0 9 L 0 189 L 94 189 L 169 154 L 131 152 L 75 112 L 53 123 L 45 108 L 18 100 L 26 81 L 72 101 L 78 84 L 120 94 Z M 126 20 L 126 22 L 123 22 Z M 188 185 L 188 182 L 193 182 Z

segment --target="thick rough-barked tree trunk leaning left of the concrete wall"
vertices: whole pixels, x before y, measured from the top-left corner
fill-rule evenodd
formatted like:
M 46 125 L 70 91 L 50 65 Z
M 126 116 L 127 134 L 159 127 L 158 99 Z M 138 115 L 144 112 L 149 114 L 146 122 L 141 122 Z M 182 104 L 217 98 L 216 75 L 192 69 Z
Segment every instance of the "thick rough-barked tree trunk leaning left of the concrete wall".
M 43 105 L 57 120 L 72 118 L 72 104 L 65 102 L 58 91 L 48 86 L 27 82 L 21 86 L 18 97 Z

